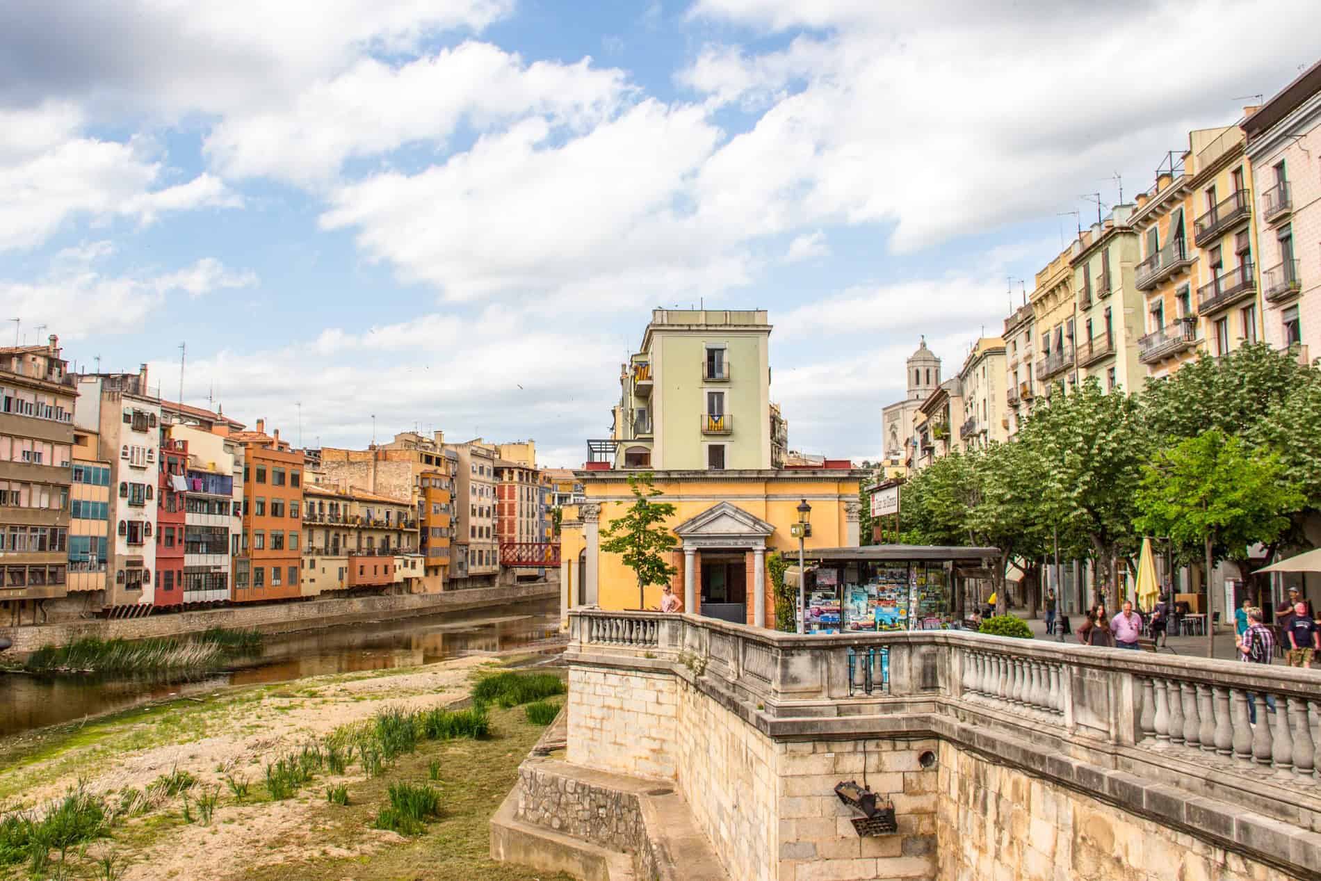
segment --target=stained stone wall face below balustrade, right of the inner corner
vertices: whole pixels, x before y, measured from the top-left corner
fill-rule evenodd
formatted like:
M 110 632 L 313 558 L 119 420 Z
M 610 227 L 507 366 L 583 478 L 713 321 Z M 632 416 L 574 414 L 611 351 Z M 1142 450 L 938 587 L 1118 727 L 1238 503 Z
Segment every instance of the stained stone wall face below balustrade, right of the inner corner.
M 1288 881 L 1098 799 L 941 745 L 939 881 Z

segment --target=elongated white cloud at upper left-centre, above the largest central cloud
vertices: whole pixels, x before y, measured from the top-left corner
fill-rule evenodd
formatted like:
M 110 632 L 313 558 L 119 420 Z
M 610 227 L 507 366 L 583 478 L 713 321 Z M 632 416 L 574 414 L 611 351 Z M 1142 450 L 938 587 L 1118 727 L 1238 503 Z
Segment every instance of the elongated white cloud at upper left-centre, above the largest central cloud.
M 625 92 L 620 70 L 539 61 L 468 41 L 402 66 L 362 58 L 293 99 L 254 114 L 236 111 L 206 137 L 205 152 L 227 176 L 297 182 L 334 177 L 345 160 L 427 141 L 443 145 L 466 122 L 487 129 L 540 115 L 584 131 Z

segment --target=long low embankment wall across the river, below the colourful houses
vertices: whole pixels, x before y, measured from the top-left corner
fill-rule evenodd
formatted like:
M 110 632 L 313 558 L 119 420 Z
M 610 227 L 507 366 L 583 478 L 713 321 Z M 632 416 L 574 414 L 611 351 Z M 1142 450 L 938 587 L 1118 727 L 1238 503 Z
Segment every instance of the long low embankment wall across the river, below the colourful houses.
M 145 618 L 90 619 L 30 627 L 0 627 L 0 637 L 13 641 L 5 654 L 36 651 L 41 646 L 62 646 L 83 637 L 99 639 L 144 639 L 201 633 L 209 627 L 255 629 L 263 633 L 316 630 L 353 621 L 408 618 L 415 616 L 501 606 L 526 600 L 559 596 L 559 584 L 538 581 L 503 588 L 474 588 L 444 593 L 408 593 L 387 597 L 313 600 L 259 606 L 226 606 L 203 612 L 155 614 Z

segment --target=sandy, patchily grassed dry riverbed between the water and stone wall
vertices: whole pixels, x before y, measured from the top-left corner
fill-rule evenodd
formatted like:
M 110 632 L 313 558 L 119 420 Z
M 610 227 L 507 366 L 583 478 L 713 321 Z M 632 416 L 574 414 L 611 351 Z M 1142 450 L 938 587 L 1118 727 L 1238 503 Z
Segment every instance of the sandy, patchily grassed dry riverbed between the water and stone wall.
M 468 695 L 472 680 L 498 662 L 458 658 L 427 667 L 303 679 L 284 686 L 230 689 L 203 699 L 129 711 L 86 725 L 33 732 L 0 742 L 0 804 L 41 807 L 79 779 L 108 799 L 145 789 L 162 774 L 188 771 L 194 791 L 218 787 L 206 826 L 184 819 L 182 799 L 168 800 L 114 827 L 87 848 L 86 864 L 114 853 L 124 881 L 148 878 L 506 878 L 552 876 L 486 860 L 486 820 L 513 786 L 518 762 L 543 730 L 522 708 L 491 712 L 493 737 L 424 744 L 382 777 L 361 765 L 317 773 L 299 795 L 271 800 L 266 765 L 337 726 L 384 707 L 424 709 Z M 416 839 L 370 828 L 396 781 L 425 782 L 440 769 L 443 818 Z M 225 777 L 246 778 L 239 800 Z M 325 787 L 345 783 L 349 806 L 328 803 Z M 196 808 L 193 810 L 196 815 Z M 85 872 L 92 877 L 90 872 Z M 26 877 L 24 866 L 8 876 Z M 82 876 L 75 876 L 82 877 Z

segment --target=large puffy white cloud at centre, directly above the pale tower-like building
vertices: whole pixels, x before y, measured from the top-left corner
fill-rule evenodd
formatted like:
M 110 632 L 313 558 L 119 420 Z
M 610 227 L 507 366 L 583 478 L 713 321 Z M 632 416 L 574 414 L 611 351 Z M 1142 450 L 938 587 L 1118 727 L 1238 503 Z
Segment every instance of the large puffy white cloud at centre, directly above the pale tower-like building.
M 321 225 L 357 230 L 370 259 L 452 300 L 687 295 L 744 277 L 731 255 L 741 234 L 684 209 L 720 136 L 701 108 L 643 100 L 579 137 L 550 135 L 532 118 L 421 173 L 342 186 Z M 641 293 L 609 289 L 625 281 Z

